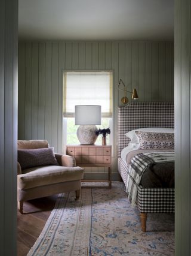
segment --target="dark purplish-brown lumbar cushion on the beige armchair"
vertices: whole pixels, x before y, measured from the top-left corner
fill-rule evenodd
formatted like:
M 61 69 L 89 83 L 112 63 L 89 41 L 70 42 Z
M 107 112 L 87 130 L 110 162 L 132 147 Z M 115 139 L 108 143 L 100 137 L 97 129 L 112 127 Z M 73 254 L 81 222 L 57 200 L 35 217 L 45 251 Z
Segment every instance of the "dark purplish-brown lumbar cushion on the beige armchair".
M 21 169 L 41 165 L 58 165 L 54 156 L 54 147 L 42 149 L 18 149 L 18 162 Z

